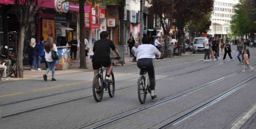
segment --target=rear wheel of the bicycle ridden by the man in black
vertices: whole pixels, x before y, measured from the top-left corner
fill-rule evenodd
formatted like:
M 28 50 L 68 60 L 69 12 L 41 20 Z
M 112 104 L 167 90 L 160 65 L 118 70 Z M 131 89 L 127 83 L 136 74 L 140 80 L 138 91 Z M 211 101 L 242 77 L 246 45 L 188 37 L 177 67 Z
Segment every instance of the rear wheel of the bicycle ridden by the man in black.
M 97 102 L 100 102 L 103 97 L 104 89 L 102 89 L 102 77 L 98 73 L 93 78 L 93 97 Z

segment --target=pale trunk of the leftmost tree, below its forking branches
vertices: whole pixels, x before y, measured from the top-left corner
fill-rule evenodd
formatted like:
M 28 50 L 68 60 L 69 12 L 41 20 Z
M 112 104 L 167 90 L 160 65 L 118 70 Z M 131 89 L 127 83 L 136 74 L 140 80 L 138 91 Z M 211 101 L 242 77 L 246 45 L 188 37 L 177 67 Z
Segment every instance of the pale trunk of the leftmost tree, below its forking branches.
M 23 49 L 24 49 L 24 40 L 25 40 L 25 31 L 26 26 L 20 24 L 19 28 L 19 42 L 18 42 L 18 54 L 17 54 L 17 77 L 23 78 Z

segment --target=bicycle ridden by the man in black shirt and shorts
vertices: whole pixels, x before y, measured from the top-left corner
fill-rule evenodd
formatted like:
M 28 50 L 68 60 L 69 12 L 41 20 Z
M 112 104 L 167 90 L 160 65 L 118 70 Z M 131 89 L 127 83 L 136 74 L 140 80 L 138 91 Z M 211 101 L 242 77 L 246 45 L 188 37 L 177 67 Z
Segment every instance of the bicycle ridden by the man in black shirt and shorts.
M 111 58 L 111 59 L 120 59 L 120 58 Z M 93 97 L 96 100 L 96 102 L 100 102 L 104 89 L 105 91 L 108 91 L 109 96 L 112 98 L 114 97 L 115 94 L 115 78 L 114 78 L 114 73 L 111 71 L 110 78 L 112 81 L 107 81 L 106 76 L 103 76 L 103 72 L 106 70 L 106 67 L 101 67 L 100 68 L 100 73 L 95 74 L 94 79 L 93 79 Z

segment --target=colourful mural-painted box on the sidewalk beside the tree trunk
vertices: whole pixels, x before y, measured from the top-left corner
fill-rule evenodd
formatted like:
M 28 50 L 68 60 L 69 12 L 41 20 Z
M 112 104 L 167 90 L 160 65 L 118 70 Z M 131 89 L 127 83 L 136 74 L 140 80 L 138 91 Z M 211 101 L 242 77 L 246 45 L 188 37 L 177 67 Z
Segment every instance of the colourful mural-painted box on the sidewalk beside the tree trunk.
M 56 60 L 57 70 L 67 70 L 71 66 L 70 50 L 68 48 L 58 47 L 59 60 Z

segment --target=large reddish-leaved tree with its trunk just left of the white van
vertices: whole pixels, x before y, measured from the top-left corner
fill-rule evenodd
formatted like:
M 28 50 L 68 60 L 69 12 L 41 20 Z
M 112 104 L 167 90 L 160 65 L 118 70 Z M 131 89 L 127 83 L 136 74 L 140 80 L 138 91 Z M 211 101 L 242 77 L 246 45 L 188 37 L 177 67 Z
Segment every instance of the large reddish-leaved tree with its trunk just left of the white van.
M 179 55 L 181 55 L 180 44 L 183 43 L 183 53 L 185 53 L 184 27 L 189 21 L 202 19 L 205 14 L 213 10 L 213 0 L 176 0 L 175 1 L 175 26 L 178 29 Z

